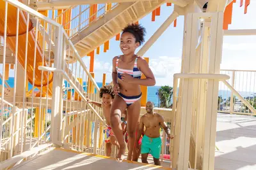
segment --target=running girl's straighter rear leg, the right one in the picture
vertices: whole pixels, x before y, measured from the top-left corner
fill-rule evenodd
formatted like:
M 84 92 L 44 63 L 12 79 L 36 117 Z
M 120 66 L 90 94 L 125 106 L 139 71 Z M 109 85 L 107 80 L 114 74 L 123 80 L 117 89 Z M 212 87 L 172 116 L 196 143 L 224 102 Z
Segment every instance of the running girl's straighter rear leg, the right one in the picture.
M 136 125 L 138 124 L 138 120 L 140 117 L 140 99 L 134 103 L 132 103 L 128 108 L 128 120 L 127 120 L 127 132 L 128 132 L 128 141 L 129 141 L 129 150 L 127 160 L 132 160 L 132 152 L 135 146 L 135 131 Z

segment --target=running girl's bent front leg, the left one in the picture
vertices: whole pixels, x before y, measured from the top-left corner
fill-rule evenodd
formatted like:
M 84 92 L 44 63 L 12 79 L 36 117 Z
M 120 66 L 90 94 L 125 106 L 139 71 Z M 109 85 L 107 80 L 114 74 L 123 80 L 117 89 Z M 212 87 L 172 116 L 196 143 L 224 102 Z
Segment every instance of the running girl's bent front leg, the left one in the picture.
M 120 124 L 121 113 L 124 112 L 125 109 L 126 103 L 124 99 L 116 95 L 110 110 L 110 124 L 119 144 L 119 150 L 116 155 L 118 162 L 122 162 L 125 153 L 125 142 L 123 138 L 122 126 Z

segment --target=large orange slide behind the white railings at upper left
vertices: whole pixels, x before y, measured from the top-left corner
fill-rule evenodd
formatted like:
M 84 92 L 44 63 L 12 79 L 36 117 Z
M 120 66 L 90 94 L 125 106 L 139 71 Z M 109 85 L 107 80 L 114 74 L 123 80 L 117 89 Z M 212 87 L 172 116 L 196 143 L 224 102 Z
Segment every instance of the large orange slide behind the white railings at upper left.
M 0 36 L 4 36 L 4 13 L 5 2 L 0 0 Z M 18 60 L 23 68 L 25 68 L 25 53 L 26 53 L 26 29 L 27 29 L 27 15 L 24 11 L 19 13 L 19 41 L 18 41 Z M 15 53 L 16 43 L 16 27 L 17 27 L 17 8 L 8 4 L 7 14 L 7 37 L 6 45 Z M 28 60 L 27 60 L 27 76 L 29 83 L 33 84 L 33 64 L 34 64 L 34 52 L 35 52 L 35 31 L 33 24 L 29 21 L 29 33 L 28 33 Z M 43 55 L 42 48 L 39 43 L 36 45 L 36 64 L 35 64 L 35 87 L 40 89 L 42 71 L 38 70 L 38 66 L 42 66 Z M 47 66 L 44 60 L 44 66 Z M 44 71 L 42 78 L 43 94 L 45 96 L 47 92 L 47 78 L 48 73 Z M 53 73 L 49 73 L 49 87 L 48 94 L 52 96 L 52 80 Z

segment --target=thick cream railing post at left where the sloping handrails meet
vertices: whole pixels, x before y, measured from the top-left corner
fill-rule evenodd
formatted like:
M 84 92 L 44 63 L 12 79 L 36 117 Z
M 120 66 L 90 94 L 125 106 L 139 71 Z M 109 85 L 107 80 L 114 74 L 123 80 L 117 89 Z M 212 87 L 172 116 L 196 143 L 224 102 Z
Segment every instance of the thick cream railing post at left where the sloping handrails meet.
M 56 37 L 54 44 L 54 67 L 57 69 L 62 68 L 63 60 L 63 34 L 61 27 L 56 28 Z M 51 140 L 52 143 L 57 144 L 61 141 L 61 120 L 62 120 L 62 81 L 63 76 L 60 73 L 53 74 L 53 85 L 52 85 L 52 113 L 51 113 Z

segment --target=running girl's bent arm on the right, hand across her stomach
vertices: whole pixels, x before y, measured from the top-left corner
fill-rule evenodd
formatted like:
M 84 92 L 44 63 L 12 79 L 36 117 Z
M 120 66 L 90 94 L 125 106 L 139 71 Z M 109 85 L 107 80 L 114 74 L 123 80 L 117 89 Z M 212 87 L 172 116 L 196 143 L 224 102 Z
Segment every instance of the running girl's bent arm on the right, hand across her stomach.
M 145 85 L 145 86 L 154 86 L 156 85 L 156 79 L 151 69 L 148 66 L 148 63 L 145 59 L 138 58 L 138 69 L 145 75 L 145 79 L 133 78 L 129 74 L 122 74 L 122 80 L 127 81 L 127 83 Z

